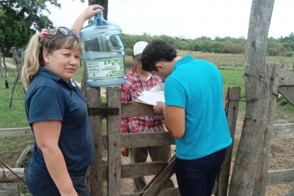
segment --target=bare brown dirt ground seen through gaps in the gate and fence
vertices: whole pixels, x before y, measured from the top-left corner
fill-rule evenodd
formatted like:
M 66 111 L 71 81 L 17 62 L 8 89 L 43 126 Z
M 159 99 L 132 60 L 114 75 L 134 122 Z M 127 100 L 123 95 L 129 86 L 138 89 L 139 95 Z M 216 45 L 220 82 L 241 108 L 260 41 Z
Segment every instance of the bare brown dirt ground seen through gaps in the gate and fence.
M 238 115 L 238 121 L 236 125 L 235 132 L 235 141 L 233 147 L 233 157 L 231 164 L 231 172 L 234 165 L 235 154 L 238 148 L 238 144 L 241 137 L 243 120 L 245 114 Z M 174 150 L 174 146 L 172 146 L 172 150 Z M 294 139 L 281 139 L 281 140 L 273 140 L 271 144 L 271 152 L 269 159 L 269 171 L 273 170 L 284 170 L 284 169 L 293 169 L 294 168 Z M 150 158 L 148 157 L 148 160 Z M 122 157 L 122 164 L 129 164 L 129 157 Z M 150 181 L 153 176 L 146 176 L 146 180 Z M 175 175 L 172 175 L 172 181 L 177 187 Z M 121 181 L 121 193 L 122 194 L 131 194 L 133 193 L 133 184 L 131 178 L 125 178 Z M 266 196 L 284 196 L 290 190 L 294 188 L 294 183 L 290 184 L 281 184 L 274 186 L 267 186 Z

